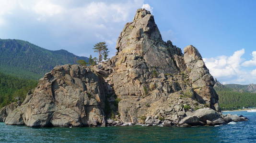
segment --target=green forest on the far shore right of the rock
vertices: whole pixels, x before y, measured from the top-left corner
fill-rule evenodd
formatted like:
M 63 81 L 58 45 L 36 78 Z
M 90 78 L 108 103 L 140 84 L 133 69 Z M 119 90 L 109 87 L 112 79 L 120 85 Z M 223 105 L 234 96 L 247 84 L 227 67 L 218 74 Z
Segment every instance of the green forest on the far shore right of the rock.
M 234 92 L 232 88 L 215 88 L 219 95 L 221 110 L 256 107 L 256 93 Z

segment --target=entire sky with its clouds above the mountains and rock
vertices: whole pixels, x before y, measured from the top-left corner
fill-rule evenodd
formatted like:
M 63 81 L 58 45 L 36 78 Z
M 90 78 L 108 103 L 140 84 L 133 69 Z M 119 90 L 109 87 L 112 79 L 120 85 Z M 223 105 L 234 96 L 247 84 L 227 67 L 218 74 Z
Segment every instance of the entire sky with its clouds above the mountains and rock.
M 194 45 L 223 83 L 256 83 L 255 0 L 0 0 L 0 38 L 80 56 L 116 39 L 135 11 L 151 10 L 164 41 Z M 255 51 L 255 52 L 254 52 Z

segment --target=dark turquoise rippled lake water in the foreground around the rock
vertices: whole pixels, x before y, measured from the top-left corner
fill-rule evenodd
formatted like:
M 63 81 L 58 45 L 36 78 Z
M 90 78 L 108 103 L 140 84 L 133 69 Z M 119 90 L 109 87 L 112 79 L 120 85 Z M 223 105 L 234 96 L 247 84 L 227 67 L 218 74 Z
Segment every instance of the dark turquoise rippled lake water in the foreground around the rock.
M 31 143 L 256 143 L 256 112 L 248 122 L 218 127 L 125 126 L 95 128 L 30 128 L 0 123 L 0 142 Z

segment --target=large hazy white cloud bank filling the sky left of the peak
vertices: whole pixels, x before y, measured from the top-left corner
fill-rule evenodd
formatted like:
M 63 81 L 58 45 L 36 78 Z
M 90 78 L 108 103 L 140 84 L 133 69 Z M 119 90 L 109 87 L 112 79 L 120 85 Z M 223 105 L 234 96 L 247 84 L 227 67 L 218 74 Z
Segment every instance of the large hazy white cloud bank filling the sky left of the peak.
M 37 41 L 34 43 L 44 48 L 61 47 L 75 54 L 86 46 L 89 55 L 93 54 L 93 44 L 106 41 L 110 55 L 115 55 L 120 31 L 143 3 L 144 0 L 0 0 L 0 28 L 5 26 L 0 29 L 0 38 Z M 9 32 L 8 27 L 15 32 Z M 48 38 L 50 43 L 42 38 Z

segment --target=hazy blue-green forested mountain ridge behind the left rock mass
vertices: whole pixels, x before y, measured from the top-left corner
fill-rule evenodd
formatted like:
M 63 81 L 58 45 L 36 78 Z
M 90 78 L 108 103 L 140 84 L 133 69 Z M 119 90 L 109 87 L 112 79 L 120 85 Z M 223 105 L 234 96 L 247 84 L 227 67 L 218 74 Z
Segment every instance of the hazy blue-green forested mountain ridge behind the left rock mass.
M 0 72 L 16 77 L 38 80 L 56 65 L 75 64 L 87 57 L 66 50 L 51 51 L 28 41 L 0 39 Z

